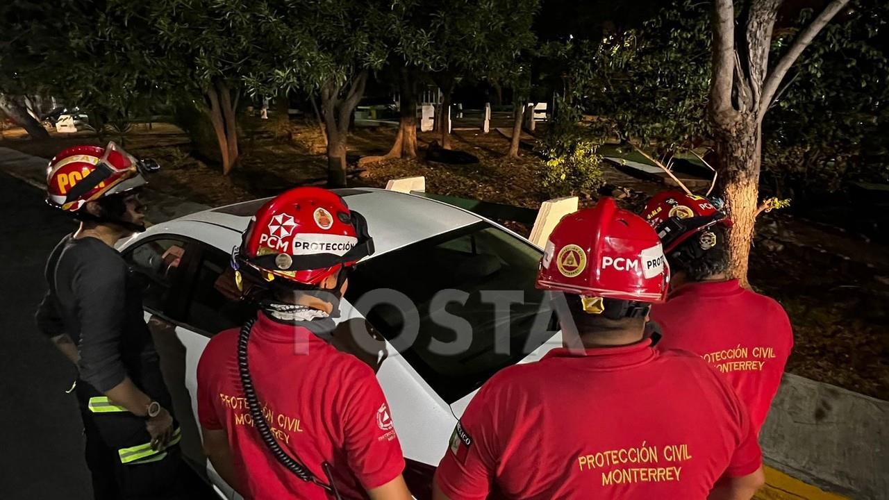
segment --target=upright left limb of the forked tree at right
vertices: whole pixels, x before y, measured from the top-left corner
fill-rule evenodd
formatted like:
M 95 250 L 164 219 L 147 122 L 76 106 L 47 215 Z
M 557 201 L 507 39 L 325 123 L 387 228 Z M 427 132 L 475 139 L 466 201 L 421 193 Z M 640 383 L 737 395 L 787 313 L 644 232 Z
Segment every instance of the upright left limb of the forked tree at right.
M 734 5 L 732 0 L 716 0 L 713 8 L 713 68 L 710 108 L 714 117 L 733 111 Z

